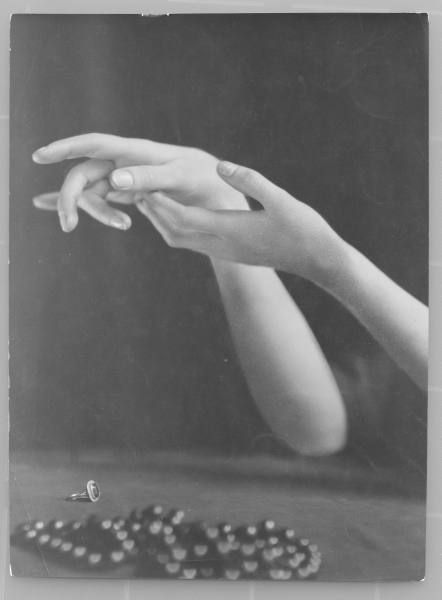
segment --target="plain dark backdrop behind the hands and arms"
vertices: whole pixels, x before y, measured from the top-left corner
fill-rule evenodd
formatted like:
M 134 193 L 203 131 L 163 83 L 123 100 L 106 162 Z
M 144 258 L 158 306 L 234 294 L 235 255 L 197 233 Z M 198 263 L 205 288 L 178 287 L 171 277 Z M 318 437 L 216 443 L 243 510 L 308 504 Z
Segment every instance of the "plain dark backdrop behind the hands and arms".
M 22 15 L 11 37 L 13 450 L 282 452 L 249 396 L 204 257 L 32 207 L 88 131 L 202 147 L 317 208 L 427 301 L 424 15 Z M 425 396 L 333 299 L 283 275 L 336 369 L 347 452 L 423 472 Z

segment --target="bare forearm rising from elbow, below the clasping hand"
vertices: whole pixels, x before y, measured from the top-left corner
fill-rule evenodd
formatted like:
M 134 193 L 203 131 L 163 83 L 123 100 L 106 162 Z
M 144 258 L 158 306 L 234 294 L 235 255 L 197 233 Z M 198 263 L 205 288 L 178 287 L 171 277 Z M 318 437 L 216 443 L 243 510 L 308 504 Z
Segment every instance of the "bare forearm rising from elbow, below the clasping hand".
M 333 373 L 276 273 L 212 262 L 244 375 L 263 417 L 287 444 L 329 454 L 346 439 Z

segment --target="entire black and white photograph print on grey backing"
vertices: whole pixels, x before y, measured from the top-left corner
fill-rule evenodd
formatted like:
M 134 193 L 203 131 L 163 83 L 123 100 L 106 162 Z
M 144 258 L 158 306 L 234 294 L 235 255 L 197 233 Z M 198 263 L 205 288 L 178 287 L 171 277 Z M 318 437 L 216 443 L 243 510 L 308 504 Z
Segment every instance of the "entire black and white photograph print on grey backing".
M 12 575 L 423 580 L 427 15 L 10 47 Z

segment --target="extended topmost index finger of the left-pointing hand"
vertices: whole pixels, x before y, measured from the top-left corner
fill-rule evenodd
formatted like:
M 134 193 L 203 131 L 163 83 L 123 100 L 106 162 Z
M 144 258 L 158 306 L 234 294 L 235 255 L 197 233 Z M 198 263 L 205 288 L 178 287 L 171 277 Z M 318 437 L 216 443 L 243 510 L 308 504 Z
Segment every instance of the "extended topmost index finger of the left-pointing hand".
M 85 133 L 63 138 L 36 150 L 32 158 L 39 164 L 52 164 L 73 158 L 116 160 L 123 157 L 128 164 L 161 163 L 175 158 L 177 148 L 151 140 L 123 138 L 104 133 Z

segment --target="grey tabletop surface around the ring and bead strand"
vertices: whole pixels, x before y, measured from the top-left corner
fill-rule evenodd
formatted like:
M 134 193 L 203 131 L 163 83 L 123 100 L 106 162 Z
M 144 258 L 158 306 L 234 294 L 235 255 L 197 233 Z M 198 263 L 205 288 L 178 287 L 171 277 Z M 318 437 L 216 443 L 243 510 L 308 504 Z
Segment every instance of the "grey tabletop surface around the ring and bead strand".
M 95 479 L 97 503 L 64 498 Z M 268 458 L 117 454 L 11 457 L 10 528 L 44 521 L 127 515 L 160 503 L 186 520 L 234 525 L 272 518 L 319 546 L 322 581 L 421 580 L 425 576 L 425 501 L 388 487 L 388 473 L 335 462 Z M 369 483 L 368 483 L 369 482 Z M 397 487 L 397 486 L 396 486 Z M 133 567 L 96 573 L 11 547 L 12 573 L 26 577 L 131 578 Z

